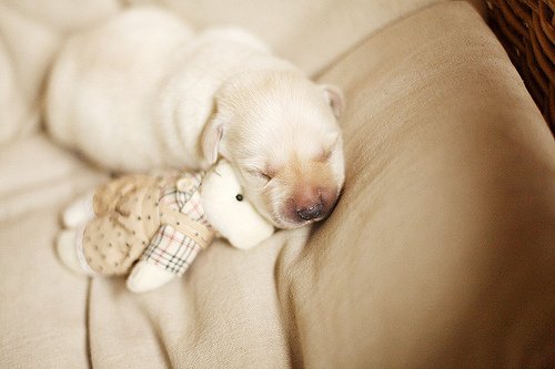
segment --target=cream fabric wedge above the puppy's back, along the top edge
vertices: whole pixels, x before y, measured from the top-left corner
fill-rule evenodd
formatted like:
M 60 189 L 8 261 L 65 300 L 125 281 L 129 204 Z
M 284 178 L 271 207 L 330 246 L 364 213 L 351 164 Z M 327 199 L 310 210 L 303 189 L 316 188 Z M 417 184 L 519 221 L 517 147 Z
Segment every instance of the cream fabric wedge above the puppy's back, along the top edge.
M 310 75 L 385 24 L 438 0 L 161 0 L 199 28 L 235 24 L 254 32 Z M 135 0 L 133 2 L 148 2 Z

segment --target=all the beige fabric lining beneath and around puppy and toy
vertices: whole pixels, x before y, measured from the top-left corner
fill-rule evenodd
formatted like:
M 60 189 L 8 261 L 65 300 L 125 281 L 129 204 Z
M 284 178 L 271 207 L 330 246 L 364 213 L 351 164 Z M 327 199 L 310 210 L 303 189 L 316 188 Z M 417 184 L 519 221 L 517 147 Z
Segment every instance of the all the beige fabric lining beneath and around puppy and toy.
M 346 182 L 312 228 L 216 242 L 147 294 L 58 260 L 109 173 L 53 142 L 68 35 L 157 3 L 232 23 L 341 86 Z M 0 2 L 0 367 L 555 366 L 555 144 L 481 1 Z

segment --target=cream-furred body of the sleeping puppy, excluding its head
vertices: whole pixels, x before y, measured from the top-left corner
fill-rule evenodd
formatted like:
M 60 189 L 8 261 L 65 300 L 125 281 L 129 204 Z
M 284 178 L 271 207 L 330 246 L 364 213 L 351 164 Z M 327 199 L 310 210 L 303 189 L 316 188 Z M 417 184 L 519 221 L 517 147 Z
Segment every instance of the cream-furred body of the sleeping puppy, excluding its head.
M 49 83 L 50 132 L 115 171 L 205 166 L 198 142 L 214 93 L 259 59 L 266 52 L 246 33 L 194 37 L 165 12 L 134 9 L 62 50 Z

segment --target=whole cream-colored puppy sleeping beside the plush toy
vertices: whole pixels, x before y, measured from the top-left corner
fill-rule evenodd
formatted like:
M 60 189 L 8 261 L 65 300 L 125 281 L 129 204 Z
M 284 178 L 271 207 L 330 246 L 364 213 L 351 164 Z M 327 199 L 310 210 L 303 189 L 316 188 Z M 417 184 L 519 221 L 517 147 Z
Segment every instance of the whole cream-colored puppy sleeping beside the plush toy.
M 67 42 L 46 103 L 51 135 L 113 171 L 228 158 L 280 228 L 326 217 L 343 186 L 341 92 L 240 30 L 193 34 L 171 13 L 133 8 Z

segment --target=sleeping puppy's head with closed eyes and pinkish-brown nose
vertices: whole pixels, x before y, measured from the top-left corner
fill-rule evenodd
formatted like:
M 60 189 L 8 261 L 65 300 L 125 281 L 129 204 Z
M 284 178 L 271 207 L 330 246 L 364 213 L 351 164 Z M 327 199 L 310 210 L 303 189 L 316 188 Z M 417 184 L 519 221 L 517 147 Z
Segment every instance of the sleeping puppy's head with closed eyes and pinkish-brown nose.
M 238 171 L 249 199 L 281 228 L 325 218 L 344 182 L 341 93 L 297 72 L 238 75 L 215 98 L 202 150 Z

